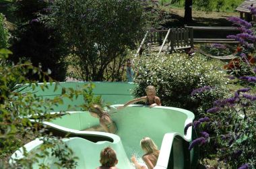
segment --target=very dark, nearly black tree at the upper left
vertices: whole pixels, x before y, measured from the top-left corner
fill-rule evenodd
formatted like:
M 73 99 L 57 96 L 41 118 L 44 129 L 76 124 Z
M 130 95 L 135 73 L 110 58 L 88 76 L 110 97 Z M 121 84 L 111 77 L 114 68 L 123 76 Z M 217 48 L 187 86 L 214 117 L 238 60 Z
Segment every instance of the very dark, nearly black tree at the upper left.
M 65 46 L 61 44 L 59 33 L 46 27 L 39 21 L 38 12 L 46 13 L 47 1 L 22 0 L 15 1 L 15 14 L 18 18 L 18 29 L 13 31 L 10 60 L 30 60 L 34 66 L 42 65 L 42 70 L 51 71 L 55 80 L 65 80 Z M 33 77 L 37 78 L 37 77 Z

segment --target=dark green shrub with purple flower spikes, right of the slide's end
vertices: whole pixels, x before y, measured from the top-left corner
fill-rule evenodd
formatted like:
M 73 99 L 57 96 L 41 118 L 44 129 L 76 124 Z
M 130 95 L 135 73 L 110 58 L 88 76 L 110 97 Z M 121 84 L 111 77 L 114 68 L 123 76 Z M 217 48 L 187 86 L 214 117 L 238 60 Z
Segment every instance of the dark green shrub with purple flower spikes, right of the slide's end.
M 203 158 L 214 156 L 230 168 L 243 164 L 255 166 L 256 95 L 250 91 L 247 87 L 230 93 L 228 98 L 215 101 L 213 108 L 201 114 L 211 119 L 199 127 L 210 133 L 207 139 L 210 144 L 202 150 Z

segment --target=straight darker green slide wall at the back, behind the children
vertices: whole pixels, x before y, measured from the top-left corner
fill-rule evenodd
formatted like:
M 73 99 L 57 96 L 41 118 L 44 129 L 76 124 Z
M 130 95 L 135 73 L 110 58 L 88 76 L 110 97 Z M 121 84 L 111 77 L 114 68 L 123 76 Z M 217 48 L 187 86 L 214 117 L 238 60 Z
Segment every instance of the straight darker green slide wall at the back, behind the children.
M 84 85 L 88 84 L 87 82 L 60 82 L 57 86 L 57 90 L 55 89 L 55 83 L 48 84 L 49 89 L 40 89 L 40 84 L 34 90 L 35 94 L 38 96 L 42 96 L 44 98 L 53 99 L 54 97 L 59 97 L 61 95 L 62 88 L 72 88 L 72 89 L 82 89 Z M 92 82 L 95 85 L 93 89 L 93 93 L 95 96 L 101 95 L 103 101 L 109 103 L 110 105 L 114 104 L 123 104 L 127 101 L 133 99 L 133 95 L 131 94 L 135 84 L 128 82 Z M 79 95 L 77 99 L 74 98 L 73 101 L 70 99 L 63 99 L 63 105 L 59 105 L 58 107 L 53 107 L 55 111 L 81 111 L 81 109 L 67 109 L 68 105 L 77 106 L 84 104 L 84 98 L 82 95 Z

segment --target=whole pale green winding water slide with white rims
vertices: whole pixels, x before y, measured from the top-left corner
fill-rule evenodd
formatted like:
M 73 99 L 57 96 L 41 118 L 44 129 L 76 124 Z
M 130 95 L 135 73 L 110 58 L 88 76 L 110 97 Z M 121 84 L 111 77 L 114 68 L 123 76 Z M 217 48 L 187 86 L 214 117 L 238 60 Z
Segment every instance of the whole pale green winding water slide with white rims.
M 65 87 L 77 87 L 77 84 L 83 83 L 63 83 Z M 108 88 L 106 88 L 108 87 Z M 112 103 L 125 103 L 132 98 L 130 89 L 133 89 L 132 83 L 110 83 L 99 82 L 96 84 L 96 95 Z M 97 91 L 98 88 L 98 91 Z M 102 88 L 102 89 L 101 89 Z M 42 97 L 54 97 L 58 91 L 49 93 L 40 93 Z M 54 95 L 53 95 L 54 94 Z M 73 104 L 81 102 L 81 98 L 73 101 Z M 71 148 L 77 160 L 77 168 L 96 168 L 100 166 L 100 151 L 106 146 L 110 146 L 117 152 L 119 163 L 118 168 L 134 168 L 130 162 L 132 154 L 135 154 L 139 162 L 143 163 L 141 156 L 143 152 L 139 146 L 139 141 L 143 137 L 151 137 L 160 148 L 160 155 L 156 164 L 157 169 L 162 168 L 195 168 L 197 157 L 193 152 L 189 152 L 189 142 L 192 139 L 192 128 L 189 127 L 187 135 L 184 135 L 184 127 L 187 123 L 193 121 L 194 115 L 185 109 L 174 107 L 146 107 L 143 105 L 131 105 L 116 111 L 112 105 L 110 109 L 111 118 L 117 123 L 118 131 L 115 134 L 98 131 L 83 131 L 88 127 L 98 125 L 98 119 L 90 116 L 87 111 L 72 111 L 62 115 L 61 118 L 52 121 L 44 121 L 54 135 L 65 135 L 69 133 L 69 138 L 63 141 Z M 65 109 L 65 107 L 56 107 L 56 111 Z M 25 145 L 28 152 L 38 151 L 36 148 L 42 144 L 42 141 L 35 139 Z M 12 158 L 22 158 L 22 148 L 16 151 Z M 11 160 L 10 162 L 14 162 Z M 48 157 L 40 160 L 38 163 L 44 163 L 51 168 L 57 168 L 54 162 L 57 159 Z M 33 168 L 38 168 L 34 164 Z

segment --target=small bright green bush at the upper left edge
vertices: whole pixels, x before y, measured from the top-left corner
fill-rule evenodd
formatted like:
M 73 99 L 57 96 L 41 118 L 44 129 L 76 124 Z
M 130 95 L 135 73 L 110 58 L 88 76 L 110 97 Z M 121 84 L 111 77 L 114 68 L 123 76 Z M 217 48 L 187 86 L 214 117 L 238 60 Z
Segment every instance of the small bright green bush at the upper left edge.
M 9 32 L 5 23 L 5 16 L 0 13 L 0 49 L 9 47 Z

